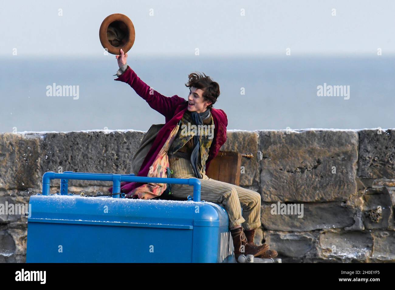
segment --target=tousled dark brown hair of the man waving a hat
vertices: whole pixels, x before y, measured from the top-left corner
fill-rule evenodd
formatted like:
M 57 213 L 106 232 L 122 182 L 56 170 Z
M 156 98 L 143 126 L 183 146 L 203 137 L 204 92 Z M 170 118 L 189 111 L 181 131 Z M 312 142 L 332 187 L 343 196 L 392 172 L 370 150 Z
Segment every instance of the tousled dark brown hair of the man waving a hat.
M 209 76 L 201 73 L 190 73 L 188 75 L 188 82 L 185 86 L 189 88 L 197 88 L 203 90 L 203 99 L 211 101 L 211 105 L 207 109 L 211 109 L 220 95 L 220 85 L 214 82 Z

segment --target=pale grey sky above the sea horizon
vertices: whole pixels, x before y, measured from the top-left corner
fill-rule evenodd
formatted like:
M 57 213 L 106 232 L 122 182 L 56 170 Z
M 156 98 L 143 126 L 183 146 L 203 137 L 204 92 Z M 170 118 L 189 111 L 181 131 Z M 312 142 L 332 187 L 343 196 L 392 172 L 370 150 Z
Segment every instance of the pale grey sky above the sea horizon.
M 135 26 L 137 55 L 395 53 L 395 1 L 2 1 L 0 56 L 102 56 L 112 13 Z M 61 8 L 63 16 L 58 16 Z M 149 16 L 150 9 L 154 16 Z M 331 16 L 332 9 L 336 16 Z M 245 16 L 241 16 L 245 9 Z

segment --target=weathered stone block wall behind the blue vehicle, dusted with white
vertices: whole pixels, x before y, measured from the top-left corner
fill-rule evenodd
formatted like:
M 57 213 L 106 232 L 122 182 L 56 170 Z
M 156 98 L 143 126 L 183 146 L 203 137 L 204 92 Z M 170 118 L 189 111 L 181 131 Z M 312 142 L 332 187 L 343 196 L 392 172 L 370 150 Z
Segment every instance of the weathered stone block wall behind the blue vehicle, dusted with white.
M 130 173 L 144 133 L 0 134 L 0 204 L 27 204 L 46 171 Z M 241 186 L 262 197 L 255 242 L 283 262 L 395 262 L 394 129 L 230 130 L 221 150 L 254 154 L 242 161 Z M 70 181 L 69 191 L 109 186 Z M 282 204 L 303 206 L 303 217 L 272 214 Z M 25 218 L 0 215 L 0 262 L 26 260 L 26 234 Z

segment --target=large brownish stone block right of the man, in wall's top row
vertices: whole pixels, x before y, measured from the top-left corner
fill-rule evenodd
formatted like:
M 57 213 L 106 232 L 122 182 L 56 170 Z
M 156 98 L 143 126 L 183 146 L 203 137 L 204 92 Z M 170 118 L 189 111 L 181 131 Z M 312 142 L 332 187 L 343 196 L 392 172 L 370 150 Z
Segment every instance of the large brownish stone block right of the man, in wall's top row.
M 347 200 L 356 193 L 358 135 L 351 130 L 260 131 L 262 200 Z

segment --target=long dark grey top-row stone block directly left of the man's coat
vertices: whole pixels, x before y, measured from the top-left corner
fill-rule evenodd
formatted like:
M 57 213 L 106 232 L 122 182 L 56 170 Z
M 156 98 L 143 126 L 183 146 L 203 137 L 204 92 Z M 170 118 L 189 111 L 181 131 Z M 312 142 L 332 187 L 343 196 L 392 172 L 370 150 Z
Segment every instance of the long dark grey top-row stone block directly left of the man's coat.
M 42 143 L 42 175 L 47 171 L 132 173 L 132 158 L 145 133 L 142 131 L 100 131 L 47 133 Z M 59 185 L 60 181 L 51 182 Z M 108 185 L 107 181 L 69 181 L 70 185 Z

